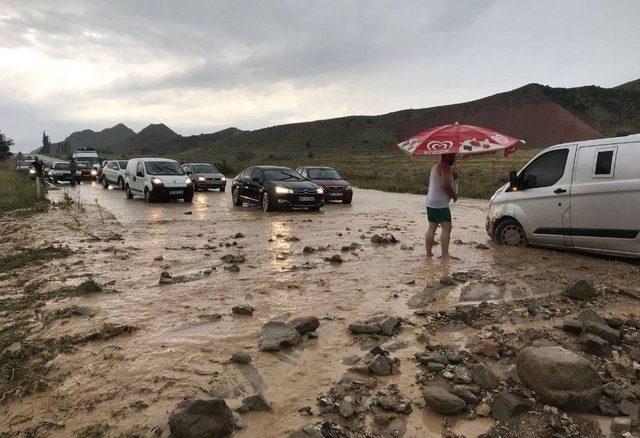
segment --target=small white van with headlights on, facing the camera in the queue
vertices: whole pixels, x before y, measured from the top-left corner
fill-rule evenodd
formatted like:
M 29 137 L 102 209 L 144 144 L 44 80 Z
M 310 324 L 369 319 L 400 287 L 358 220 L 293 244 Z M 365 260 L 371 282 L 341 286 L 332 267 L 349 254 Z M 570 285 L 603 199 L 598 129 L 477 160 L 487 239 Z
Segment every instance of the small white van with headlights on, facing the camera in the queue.
M 133 158 L 127 163 L 124 190 L 128 199 L 144 196 L 145 201 L 193 199 L 193 184 L 180 163 L 167 158 Z

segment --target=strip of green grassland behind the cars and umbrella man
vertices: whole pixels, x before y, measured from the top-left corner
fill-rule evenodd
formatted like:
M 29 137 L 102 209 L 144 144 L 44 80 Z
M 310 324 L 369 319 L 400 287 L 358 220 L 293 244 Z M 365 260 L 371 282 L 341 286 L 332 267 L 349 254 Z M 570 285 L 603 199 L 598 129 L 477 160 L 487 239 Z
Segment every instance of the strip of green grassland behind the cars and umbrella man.
M 426 193 L 431 167 L 439 157 L 408 157 L 388 145 L 352 151 L 339 148 L 261 148 L 252 154 L 214 144 L 210 149 L 183 152 L 180 161 L 207 161 L 216 164 L 228 178 L 243 169 L 260 164 L 287 166 L 293 169 L 305 165 L 331 166 L 338 169 L 353 185 L 389 192 Z M 482 157 L 460 160 L 456 164 L 460 174 L 459 191 L 465 198 L 487 199 L 509 179 L 509 171 L 519 170 L 539 149 L 520 149 L 507 158 Z

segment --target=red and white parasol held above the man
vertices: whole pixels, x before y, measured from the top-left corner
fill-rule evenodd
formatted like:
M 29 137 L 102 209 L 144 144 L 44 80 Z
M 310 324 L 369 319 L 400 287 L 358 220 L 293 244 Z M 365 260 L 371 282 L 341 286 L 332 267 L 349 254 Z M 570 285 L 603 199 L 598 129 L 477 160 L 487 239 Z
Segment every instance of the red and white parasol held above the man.
M 420 132 L 394 145 L 412 156 L 457 154 L 462 159 L 495 155 L 506 157 L 524 140 L 472 125 L 443 125 Z

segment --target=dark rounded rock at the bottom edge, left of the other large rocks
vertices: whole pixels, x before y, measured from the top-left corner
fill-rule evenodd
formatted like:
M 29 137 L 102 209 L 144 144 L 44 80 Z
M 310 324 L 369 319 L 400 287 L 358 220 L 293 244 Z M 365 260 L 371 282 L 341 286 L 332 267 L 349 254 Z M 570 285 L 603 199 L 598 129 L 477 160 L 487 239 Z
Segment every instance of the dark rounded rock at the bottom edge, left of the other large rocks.
M 185 400 L 169 415 L 176 438 L 222 438 L 233 432 L 233 414 L 222 399 Z

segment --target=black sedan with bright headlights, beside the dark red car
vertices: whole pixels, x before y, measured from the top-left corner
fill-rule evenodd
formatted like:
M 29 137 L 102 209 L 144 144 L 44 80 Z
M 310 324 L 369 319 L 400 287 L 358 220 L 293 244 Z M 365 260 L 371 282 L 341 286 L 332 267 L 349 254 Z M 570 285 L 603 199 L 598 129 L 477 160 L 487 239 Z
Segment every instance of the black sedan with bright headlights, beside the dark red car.
M 256 166 L 233 179 L 231 199 L 233 205 L 247 202 L 264 211 L 319 210 L 324 205 L 324 190 L 288 167 Z

